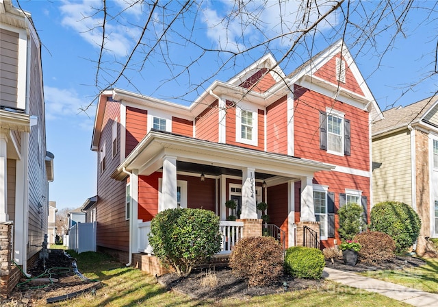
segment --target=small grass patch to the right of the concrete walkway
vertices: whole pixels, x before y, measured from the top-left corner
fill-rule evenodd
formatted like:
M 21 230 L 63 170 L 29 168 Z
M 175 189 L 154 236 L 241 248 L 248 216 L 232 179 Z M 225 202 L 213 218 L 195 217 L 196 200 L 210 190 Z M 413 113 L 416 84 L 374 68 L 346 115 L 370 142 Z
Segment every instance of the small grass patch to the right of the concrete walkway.
M 438 259 L 425 259 L 427 264 L 404 270 L 370 271 L 362 275 L 394 282 L 430 293 L 438 293 Z

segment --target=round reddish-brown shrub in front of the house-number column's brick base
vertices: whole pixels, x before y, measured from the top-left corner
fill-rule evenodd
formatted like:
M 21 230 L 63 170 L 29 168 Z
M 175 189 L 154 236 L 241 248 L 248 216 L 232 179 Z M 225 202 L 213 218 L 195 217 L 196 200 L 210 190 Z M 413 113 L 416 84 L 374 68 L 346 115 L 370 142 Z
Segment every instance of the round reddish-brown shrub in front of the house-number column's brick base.
M 229 266 L 249 286 L 272 284 L 283 274 L 283 250 L 272 236 L 242 238 L 231 251 Z

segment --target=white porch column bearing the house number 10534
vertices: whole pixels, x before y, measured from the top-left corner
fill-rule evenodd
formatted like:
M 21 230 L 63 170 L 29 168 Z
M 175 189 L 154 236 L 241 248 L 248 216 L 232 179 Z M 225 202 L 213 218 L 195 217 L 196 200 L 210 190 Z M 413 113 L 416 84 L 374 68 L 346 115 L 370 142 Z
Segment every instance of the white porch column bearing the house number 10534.
M 257 219 L 255 169 L 242 169 L 242 213 L 240 219 Z

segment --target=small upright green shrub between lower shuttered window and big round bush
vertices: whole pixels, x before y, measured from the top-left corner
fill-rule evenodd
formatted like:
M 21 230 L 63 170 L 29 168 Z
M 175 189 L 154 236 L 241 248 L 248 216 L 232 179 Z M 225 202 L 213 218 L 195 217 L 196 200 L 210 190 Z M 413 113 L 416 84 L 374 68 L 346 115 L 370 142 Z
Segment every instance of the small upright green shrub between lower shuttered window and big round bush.
M 339 236 L 344 240 L 352 238 L 361 232 L 361 214 L 363 209 L 358 204 L 348 204 L 339 208 Z

